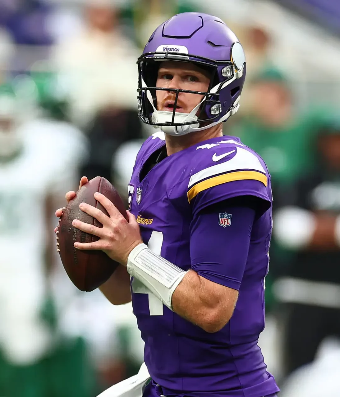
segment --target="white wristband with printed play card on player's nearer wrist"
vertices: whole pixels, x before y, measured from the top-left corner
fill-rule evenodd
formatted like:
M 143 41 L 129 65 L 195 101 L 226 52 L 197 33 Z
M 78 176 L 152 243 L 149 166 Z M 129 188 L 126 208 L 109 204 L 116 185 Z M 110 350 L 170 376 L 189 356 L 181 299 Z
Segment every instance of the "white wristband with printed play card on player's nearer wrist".
M 171 299 L 187 272 L 139 244 L 128 256 L 128 273 L 141 281 L 172 310 Z

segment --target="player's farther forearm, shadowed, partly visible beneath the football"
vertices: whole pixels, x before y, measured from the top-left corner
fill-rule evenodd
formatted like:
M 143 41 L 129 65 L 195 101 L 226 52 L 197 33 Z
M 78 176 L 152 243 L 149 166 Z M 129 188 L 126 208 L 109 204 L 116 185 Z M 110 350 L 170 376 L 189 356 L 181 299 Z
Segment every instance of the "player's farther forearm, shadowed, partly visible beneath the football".
M 109 302 L 115 305 L 131 302 L 130 275 L 119 265 L 112 276 L 99 287 Z

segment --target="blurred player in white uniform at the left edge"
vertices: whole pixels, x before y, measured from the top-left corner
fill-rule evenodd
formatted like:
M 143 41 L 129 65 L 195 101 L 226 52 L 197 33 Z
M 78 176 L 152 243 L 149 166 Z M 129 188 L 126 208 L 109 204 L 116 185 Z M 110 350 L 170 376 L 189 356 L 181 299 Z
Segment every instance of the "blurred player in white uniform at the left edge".
M 41 363 L 56 348 L 41 316 L 55 260 L 51 209 L 78 179 L 86 141 L 66 123 L 26 116 L 11 87 L 0 87 L 0 395 L 45 397 Z

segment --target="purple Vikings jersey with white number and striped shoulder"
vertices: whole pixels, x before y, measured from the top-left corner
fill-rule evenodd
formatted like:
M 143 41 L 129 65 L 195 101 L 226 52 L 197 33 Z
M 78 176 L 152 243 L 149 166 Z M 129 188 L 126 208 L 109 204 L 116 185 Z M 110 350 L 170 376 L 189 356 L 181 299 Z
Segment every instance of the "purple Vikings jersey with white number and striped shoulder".
M 130 211 L 137 218 L 144 243 L 153 252 L 188 270 L 196 261 L 190 252 L 190 233 L 202 210 L 238 196 L 257 197 L 264 210 L 251 229 L 244 270 L 230 277 L 226 274 L 233 252 L 223 253 L 225 247 L 221 246 L 224 263 L 219 266 L 223 272 L 217 267 L 214 274 L 211 264 L 206 274 L 202 272 L 211 281 L 239 290 L 233 316 L 220 331 L 208 333 L 188 322 L 164 306 L 139 280 L 131 279 L 133 310 L 145 341 L 144 360 L 150 375 L 167 394 L 182 391 L 191 396 L 208 392 L 262 397 L 276 393 L 279 389 L 266 372 L 257 345 L 264 328 L 264 277 L 272 229 L 266 165 L 238 138 L 223 136 L 164 158 L 140 180 L 146 160 L 164 145 L 161 132 L 146 140 L 128 188 Z M 216 224 L 222 230 L 232 220 L 227 212 L 219 215 Z M 211 233 L 207 227 L 206 236 Z M 203 233 L 202 247 L 205 245 Z

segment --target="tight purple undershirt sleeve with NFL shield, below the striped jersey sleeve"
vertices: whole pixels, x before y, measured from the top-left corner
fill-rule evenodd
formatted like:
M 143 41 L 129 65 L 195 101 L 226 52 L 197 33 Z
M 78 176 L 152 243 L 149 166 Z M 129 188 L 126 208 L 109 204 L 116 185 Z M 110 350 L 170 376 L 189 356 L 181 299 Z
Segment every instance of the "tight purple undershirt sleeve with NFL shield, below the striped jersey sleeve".
M 251 205 L 244 202 L 240 206 L 233 199 L 196 214 L 190 224 L 192 270 L 238 291 L 247 263 L 255 214 Z

